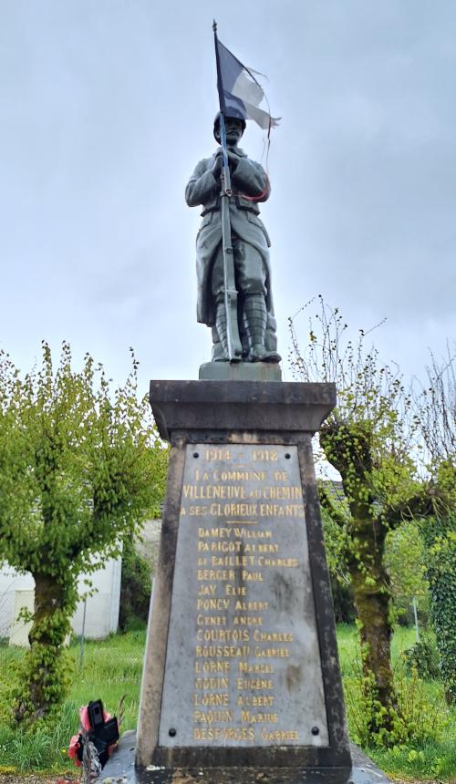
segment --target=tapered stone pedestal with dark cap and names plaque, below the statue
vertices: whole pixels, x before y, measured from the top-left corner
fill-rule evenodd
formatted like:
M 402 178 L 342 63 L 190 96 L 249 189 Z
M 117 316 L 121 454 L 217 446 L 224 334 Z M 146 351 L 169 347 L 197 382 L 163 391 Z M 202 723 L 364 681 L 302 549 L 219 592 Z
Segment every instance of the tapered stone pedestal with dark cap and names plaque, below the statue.
M 311 446 L 334 385 L 152 381 L 150 403 L 171 457 L 138 776 L 344 784 L 351 759 Z

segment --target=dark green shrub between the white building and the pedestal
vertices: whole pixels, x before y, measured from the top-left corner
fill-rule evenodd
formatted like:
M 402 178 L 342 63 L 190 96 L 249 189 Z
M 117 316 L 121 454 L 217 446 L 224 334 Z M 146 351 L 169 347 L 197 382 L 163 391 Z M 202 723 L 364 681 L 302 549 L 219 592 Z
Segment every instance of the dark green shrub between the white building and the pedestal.
M 119 629 L 133 631 L 147 624 L 150 604 L 150 564 L 136 552 L 130 538 L 122 552 Z

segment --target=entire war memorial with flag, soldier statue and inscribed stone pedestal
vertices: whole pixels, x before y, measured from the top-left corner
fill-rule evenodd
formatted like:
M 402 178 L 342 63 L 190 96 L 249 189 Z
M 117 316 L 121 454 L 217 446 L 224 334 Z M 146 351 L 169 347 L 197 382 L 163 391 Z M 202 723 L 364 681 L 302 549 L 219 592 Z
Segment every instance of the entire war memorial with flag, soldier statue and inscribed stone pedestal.
M 212 329 L 212 361 L 198 380 L 150 382 L 171 443 L 161 551 L 138 731 L 104 772 L 381 784 L 380 771 L 352 768 L 316 490 L 312 437 L 336 388 L 281 380 L 258 207 L 269 181 L 238 147 L 246 118 L 274 120 L 214 33 L 219 146 L 185 194 L 202 210 L 198 320 Z

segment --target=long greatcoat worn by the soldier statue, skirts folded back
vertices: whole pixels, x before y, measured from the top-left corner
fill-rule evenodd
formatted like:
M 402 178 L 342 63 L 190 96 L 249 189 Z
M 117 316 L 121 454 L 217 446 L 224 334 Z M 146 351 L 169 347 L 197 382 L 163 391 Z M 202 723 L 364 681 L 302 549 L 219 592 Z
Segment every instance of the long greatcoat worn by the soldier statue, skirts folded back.
M 259 201 L 266 201 L 270 193 L 268 177 L 259 163 L 249 160 L 243 150 L 232 150 L 239 162 L 232 174 L 233 196 L 230 199 L 232 235 L 255 248 L 261 254 L 266 269 L 266 309 L 269 319 L 274 319 L 271 294 L 271 269 L 269 264 L 268 234 L 258 217 Z M 196 237 L 196 273 L 198 281 L 197 319 L 202 324 L 214 324 L 212 302 L 212 266 L 222 244 L 222 211 L 220 182 L 212 174 L 215 155 L 201 160 L 187 185 L 185 199 L 189 207 L 202 204 L 202 224 Z M 234 266 L 236 263 L 234 255 Z

